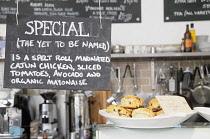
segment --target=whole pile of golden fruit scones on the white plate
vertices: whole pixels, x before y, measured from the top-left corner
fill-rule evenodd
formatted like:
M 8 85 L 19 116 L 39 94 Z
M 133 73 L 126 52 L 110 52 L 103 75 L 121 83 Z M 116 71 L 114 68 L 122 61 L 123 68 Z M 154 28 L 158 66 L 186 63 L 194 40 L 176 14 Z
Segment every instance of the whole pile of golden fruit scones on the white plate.
M 144 108 L 143 103 L 142 98 L 127 95 L 121 99 L 121 105 L 110 105 L 106 112 L 118 117 L 130 118 L 148 118 L 164 113 L 156 98 L 148 102 L 148 108 Z

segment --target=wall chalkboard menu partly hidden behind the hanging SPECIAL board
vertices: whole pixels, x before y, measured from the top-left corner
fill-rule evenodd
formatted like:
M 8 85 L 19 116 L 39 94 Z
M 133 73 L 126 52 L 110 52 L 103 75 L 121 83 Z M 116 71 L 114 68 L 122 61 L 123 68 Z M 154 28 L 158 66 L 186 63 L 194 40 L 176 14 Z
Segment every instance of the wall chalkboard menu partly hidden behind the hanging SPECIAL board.
M 0 23 L 16 13 L 16 0 L 1 0 Z M 19 0 L 22 15 L 52 15 L 99 18 L 99 0 Z M 100 0 L 103 19 L 112 23 L 140 23 L 141 0 Z

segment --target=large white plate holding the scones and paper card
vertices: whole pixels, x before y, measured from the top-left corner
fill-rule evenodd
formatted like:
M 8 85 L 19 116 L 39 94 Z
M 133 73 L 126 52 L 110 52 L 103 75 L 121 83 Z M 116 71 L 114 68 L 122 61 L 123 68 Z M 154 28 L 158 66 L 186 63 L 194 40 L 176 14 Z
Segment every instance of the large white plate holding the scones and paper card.
M 191 113 L 162 114 L 152 118 L 124 118 L 111 115 L 105 109 L 99 110 L 99 114 L 108 121 L 119 127 L 126 128 L 169 128 L 175 127 L 190 118 L 196 111 Z

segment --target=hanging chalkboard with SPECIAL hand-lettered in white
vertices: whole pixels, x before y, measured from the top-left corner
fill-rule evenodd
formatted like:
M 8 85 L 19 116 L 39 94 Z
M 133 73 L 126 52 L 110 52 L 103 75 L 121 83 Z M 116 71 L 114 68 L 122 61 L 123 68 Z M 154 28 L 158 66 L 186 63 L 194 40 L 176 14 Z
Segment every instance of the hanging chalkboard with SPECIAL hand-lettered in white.
M 110 89 L 111 21 L 7 16 L 5 88 Z

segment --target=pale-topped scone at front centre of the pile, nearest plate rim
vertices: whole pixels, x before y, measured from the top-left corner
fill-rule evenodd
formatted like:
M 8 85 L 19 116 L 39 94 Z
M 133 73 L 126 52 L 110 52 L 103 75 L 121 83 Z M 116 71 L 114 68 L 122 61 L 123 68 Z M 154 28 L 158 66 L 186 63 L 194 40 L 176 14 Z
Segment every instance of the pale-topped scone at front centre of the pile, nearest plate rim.
M 133 110 L 132 112 L 132 118 L 148 118 L 148 117 L 154 117 L 153 111 L 151 111 L 148 108 L 138 108 Z

